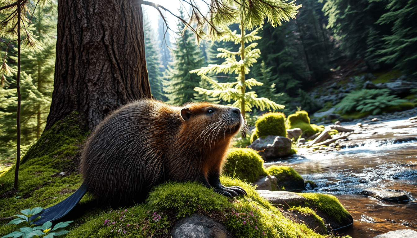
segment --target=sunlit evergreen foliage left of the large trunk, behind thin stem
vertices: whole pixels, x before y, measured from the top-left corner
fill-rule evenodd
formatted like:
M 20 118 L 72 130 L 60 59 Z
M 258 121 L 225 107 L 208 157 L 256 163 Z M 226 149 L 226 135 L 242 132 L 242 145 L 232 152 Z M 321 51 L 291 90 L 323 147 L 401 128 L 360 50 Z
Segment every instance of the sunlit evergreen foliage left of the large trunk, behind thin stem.
M 21 87 L 21 144 L 22 152 L 34 143 L 45 127 L 53 91 L 56 44 L 56 4 L 35 9 L 27 29 L 29 35 L 38 35 L 42 49 L 23 49 L 21 52 L 22 72 Z M 5 52 L 3 52 L 5 54 Z M 17 58 L 14 51 L 7 54 L 13 71 L 17 68 Z M 11 158 L 16 145 L 16 111 L 17 97 L 15 75 L 9 80 L 5 90 L 0 90 L 0 158 Z

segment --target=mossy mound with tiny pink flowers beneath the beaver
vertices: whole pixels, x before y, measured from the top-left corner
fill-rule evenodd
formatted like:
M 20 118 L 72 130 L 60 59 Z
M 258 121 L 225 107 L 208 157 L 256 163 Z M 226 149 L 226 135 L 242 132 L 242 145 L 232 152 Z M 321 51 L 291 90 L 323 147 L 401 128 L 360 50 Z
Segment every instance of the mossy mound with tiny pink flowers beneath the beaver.
M 225 186 L 240 186 L 248 196 L 227 199 L 195 182 L 166 182 L 151 191 L 145 203 L 130 208 L 103 211 L 74 228 L 67 238 L 151 237 L 168 235 L 176 221 L 192 213 L 211 215 L 223 223 L 237 238 L 324 238 L 294 223 L 259 193 L 239 179 L 221 177 Z

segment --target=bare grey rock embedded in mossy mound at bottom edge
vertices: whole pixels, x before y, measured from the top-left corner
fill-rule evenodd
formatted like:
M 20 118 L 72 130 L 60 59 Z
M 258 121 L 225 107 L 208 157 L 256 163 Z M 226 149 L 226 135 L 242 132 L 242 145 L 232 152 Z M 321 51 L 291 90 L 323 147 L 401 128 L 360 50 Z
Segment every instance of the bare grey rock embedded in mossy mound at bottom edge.
M 198 213 L 179 219 L 173 226 L 170 237 L 236 238 L 223 224 Z

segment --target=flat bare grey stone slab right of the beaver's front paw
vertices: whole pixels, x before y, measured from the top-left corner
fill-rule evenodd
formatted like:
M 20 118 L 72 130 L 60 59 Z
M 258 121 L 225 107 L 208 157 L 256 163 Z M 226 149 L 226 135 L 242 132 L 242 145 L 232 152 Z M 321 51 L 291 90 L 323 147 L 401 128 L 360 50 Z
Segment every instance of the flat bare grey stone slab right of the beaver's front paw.
M 276 207 L 285 207 L 287 204 L 301 204 L 307 200 L 297 193 L 287 191 L 258 190 L 258 193 Z

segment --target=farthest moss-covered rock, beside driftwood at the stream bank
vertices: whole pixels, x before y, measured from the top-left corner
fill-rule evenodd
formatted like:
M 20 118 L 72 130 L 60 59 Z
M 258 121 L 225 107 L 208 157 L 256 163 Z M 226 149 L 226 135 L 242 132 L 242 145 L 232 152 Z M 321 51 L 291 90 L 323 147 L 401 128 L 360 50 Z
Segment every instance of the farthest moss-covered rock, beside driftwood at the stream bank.
M 310 136 L 324 130 L 323 125 L 310 124 L 309 114 L 304 111 L 297 111 L 288 116 L 286 120 L 288 129 L 300 128 L 303 134 Z

